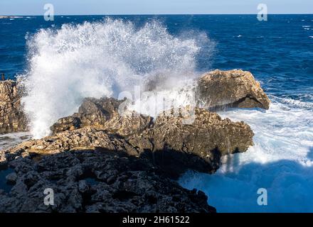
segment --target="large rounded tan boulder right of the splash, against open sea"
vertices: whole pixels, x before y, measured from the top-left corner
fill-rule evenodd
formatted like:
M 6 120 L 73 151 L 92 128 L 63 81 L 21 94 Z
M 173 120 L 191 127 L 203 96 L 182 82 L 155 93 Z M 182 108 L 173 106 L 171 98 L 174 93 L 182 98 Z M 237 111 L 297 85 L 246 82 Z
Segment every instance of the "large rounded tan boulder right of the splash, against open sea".
M 238 107 L 269 109 L 270 99 L 255 81 L 253 74 L 243 70 L 214 70 L 198 81 L 198 96 L 208 108 Z

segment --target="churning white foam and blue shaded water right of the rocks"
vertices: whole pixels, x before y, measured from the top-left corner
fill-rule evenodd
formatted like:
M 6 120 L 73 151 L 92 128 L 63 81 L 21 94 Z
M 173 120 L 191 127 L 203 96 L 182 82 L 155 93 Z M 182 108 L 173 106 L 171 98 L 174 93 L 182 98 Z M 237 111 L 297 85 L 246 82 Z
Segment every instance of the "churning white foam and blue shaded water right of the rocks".
M 246 153 L 223 157 L 214 175 L 188 172 L 183 187 L 208 194 L 219 212 L 313 212 L 312 103 L 270 96 L 268 111 L 233 109 L 223 118 L 248 123 L 255 136 Z M 258 189 L 267 189 L 267 205 Z

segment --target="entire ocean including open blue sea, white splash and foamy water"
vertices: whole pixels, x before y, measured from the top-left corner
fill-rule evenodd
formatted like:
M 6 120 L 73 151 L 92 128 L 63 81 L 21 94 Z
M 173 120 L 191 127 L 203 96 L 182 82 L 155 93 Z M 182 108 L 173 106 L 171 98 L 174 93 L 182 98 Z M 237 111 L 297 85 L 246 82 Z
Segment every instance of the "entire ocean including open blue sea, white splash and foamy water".
M 0 19 L 0 40 L 0 73 L 26 78 L 35 138 L 85 96 L 117 96 L 159 72 L 180 85 L 214 69 L 252 72 L 270 109 L 218 114 L 248 123 L 255 145 L 179 183 L 206 192 L 219 212 L 313 212 L 312 14 L 23 16 Z

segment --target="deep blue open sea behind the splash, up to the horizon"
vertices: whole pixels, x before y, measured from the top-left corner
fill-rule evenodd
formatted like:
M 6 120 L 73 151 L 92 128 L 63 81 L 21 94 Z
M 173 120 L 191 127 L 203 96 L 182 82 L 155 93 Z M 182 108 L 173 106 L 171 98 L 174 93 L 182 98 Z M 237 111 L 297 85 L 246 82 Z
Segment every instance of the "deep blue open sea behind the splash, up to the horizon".
M 26 37 L 41 28 L 60 28 L 63 23 L 101 21 L 104 16 L 43 16 L 0 20 L 0 73 L 9 77 L 27 70 Z M 198 56 L 200 70 L 243 68 L 253 72 L 270 94 L 312 101 L 313 15 L 111 16 L 142 26 L 147 21 L 164 23 L 172 35 L 205 32 L 216 42 L 212 60 Z

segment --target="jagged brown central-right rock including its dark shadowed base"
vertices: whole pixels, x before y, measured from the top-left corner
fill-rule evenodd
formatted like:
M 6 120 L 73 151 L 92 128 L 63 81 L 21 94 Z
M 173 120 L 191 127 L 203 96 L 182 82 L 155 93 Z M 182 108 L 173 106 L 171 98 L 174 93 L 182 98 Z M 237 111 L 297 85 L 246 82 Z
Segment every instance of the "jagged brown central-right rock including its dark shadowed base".
M 154 145 L 151 158 L 173 177 L 186 169 L 215 172 L 221 156 L 245 152 L 253 145 L 254 133 L 243 121 L 222 119 L 196 108 L 193 123 L 186 124 L 186 118 L 179 113 L 164 111 L 142 135 Z

